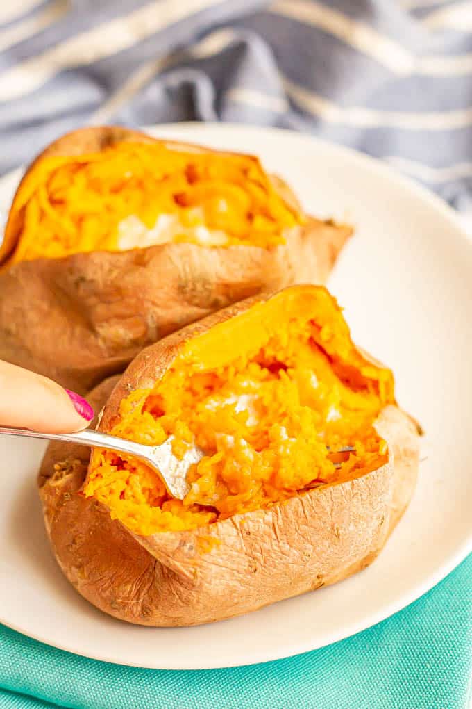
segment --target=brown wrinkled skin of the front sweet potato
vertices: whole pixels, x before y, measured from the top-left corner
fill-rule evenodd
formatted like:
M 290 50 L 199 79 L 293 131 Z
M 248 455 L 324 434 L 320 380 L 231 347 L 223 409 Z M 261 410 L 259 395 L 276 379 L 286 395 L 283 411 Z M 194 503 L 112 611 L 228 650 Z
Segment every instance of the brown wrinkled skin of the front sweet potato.
M 100 430 L 113 427 L 123 396 L 162 376 L 183 342 L 261 299 L 174 333 L 144 350 L 115 386 L 117 378 L 100 385 L 91 394 L 96 408 L 108 398 Z M 376 428 L 390 457 L 375 471 L 197 530 L 149 537 L 129 532 L 107 508 L 78 494 L 88 465 L 83 448 L 52 444 L 40 471 L 52 549 L 82 596 L 141 625 L 209 623 L 334 584 L 372 563 L 415 489 L 418 427 L 386 406 Z

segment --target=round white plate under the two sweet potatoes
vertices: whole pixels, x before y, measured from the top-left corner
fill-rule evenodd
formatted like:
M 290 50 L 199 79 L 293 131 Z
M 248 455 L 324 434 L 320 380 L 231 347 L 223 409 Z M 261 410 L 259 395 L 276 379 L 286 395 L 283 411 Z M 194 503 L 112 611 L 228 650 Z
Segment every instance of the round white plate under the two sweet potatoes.
M 398 400 L 427 430 L 429 457 L 408 512 L 366 571 L 241 618 L 154 629 L 108 618 L 69 586 L 47 545 L 35 490 L 43 447 L 0 438 L 0 620 L 56 647 L 135 666 L 202 669 L 287 657 L 395 613 L 472 547 L 471 244 L 442 201 L 342 147 L 243 125 L 154 132 L 255 152 L 307 209 L 352 220 L 357 233 L 330 287 L 357 341 L 393 367 Z M 13 182 L 0 185 L 0 207 Z

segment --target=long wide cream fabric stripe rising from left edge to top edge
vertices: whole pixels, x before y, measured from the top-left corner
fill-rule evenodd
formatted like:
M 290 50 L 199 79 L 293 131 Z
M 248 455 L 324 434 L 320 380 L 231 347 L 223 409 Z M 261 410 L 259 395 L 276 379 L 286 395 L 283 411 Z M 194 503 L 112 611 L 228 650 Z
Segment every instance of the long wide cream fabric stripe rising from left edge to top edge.
M 155 0 L 126 16 L 104 22 L 7 70 L 0 77 L 0 101 L 24 96 L 59 71 L 129 49 L 173 23 L 220 3 L 221 0 Z

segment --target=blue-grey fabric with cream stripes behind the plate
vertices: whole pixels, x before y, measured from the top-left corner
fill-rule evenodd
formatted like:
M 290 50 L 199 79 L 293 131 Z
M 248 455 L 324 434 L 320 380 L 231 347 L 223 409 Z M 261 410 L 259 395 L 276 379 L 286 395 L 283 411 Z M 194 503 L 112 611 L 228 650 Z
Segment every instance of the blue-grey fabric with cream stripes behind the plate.
M 79 125 L 183 120 L 315 133 L 472 208 L 472 2 L 0 3 L 0 173 Z

